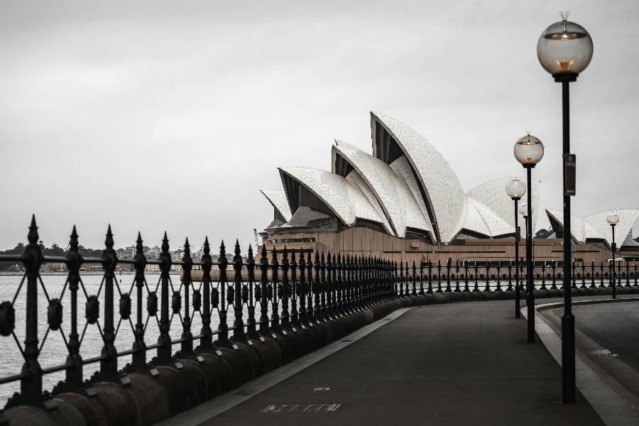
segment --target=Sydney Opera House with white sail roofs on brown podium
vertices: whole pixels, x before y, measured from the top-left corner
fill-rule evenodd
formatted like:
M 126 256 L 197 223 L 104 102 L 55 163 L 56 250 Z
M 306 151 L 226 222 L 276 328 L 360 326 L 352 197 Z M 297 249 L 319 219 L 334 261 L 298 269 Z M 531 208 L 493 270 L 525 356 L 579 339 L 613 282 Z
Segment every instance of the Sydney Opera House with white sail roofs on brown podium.
M 274 209 L 273 221 L 261 233 L 268 249 L 287 246 L 410 262 L 514 259 L 514 206 L 505 191 L 510 178 L 465 191 L 426 138 L 383 114 L 371 112 L 371 139 L 372 155 L 335 141 L 330 172 L 279 168 L 282 189 L 261 191 Z M 539 187 L 532 182 L 533 229 Z M 522 222 L 520 217 L 524 232 Z M 601 248 L 579 242 L 588 261 L 607 258 Z M 560 260 L 560 244 L 535 240 L 535 258 Z

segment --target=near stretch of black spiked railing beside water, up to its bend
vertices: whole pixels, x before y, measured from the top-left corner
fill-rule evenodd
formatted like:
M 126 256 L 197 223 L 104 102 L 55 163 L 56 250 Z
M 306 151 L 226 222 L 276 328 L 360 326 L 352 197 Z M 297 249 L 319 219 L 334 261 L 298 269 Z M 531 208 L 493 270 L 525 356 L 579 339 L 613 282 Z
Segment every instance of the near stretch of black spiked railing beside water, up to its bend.
M 342 257 L 339 253 L 327 253 L 326 256 L 315 253 L 313 258 L 311 253 L 293 253 L 284 249 L 273 251 L 269 262 L 266 249 L 262 247 L 256 262 L 249 246 L 245 261 L 236 243 L 229 265 L 224 242 L 219 249 L 219 261 L 212 261 L 208 239 L 204 240 L 202 258 L 195 261 L 190 255 L 187 239 L 182 261 L 172 261 L 165 234 L 158 260 L 151 261 L 143 254 L 143 241 L 138 234 L 134 258 L 119 259 L 110 226 L 100 258 L 82 257 L 75 226 L 69 246 L 65 257 L 43 256 L 33 218 L 24 252 L 21 255 L 0 255 L 0 261 L 20 262 L 26 269 L 12 300 L 0 303 L 0 335 L 13 337 L 24 360 L 21 371 L 0 378 L 0 385 L 20 382 L 20 393 L 9 398 L 5 409 L 16 405 L 43 405 L 50 396 L 49 393 L 43 395 L 43 376 L 52 373 L 65 372 L 65 380 L 55 386 L 53 394 L 67 391 L 86 394 L 90 393 L 90 384 L 84 381 L 83 368 L 89 364 L 99 363 L 92 382 L 124 383 L 126 373 L 153 374 L 155 365 L 168 364 L 177 359 L 178 354 L 188 356 L 214 346 L 246 342 L 246 339 L 268 335 L 273 330 L 295 324 L 331 320 L 395 295 L 395 266 L 378 258 Z M 278 258 L 282 259 L 281 262 Z M 65 263 L 67 266 L 67 277 L 59 296 L 48 291 L 40 276 L 40 267 L 45 262 Z M 83 263 L 102 264 L 104 272 L 95 293 L 90 293 L 84 285 L 80 273 Z M 116 266 L 123 264 L 132 265 L 135 270 L 128 288 L 116 279 Z M 157 283 L 147 281 L 145 269 L 148 264 L 159 266 Z M 170 270 L 176 264 L 183 271 L 179 285 L 174 284 L 170 277 Z M 201 280 L 191 279 L 194 266 L 202 269 Z M 214 266 L 219 268 L 219 278 L 212 281 Z M 230 273 L 227 271 L 229 267 L 232 268 Z M 242 278 L 243 270 L 246 279 Z M 16 312 L 14 305 L 23 292 L 26 293 L 25 308 Z M 44 300 L 38 294 L 40 292 Z M 67 313 L 63 312 L 63 300 L 70 306 L 68 320 Z M 80 300 L 84 302 L 84 317 Z M 47 312 L 47 325 L 42 336 L 38 333 L 38 310 L 43 308 Z M 196 312 L 201 317 L 202 328 L 194 334 L 192 323 Z M 16 317 L 20 316 L 23 316 L 25 325 L 24 344 L 16 335 Z M 182 334 L 179 339 L 172 339 L 170 332 L 171 327 L 175 327 L 173 320 L 176 317 Z M 66 321 L 70 322 L 67 335 L 62 329 Z M 146 331 L 149 322 L 153 321 L 158 324 L 158 342 L 148 344 Z M 217 329 L 212 328 L 212 322 L 217 323 Z M 115 346 L 116 337 L 127 325 L 131 327 L 134 341 L 129 346 L 131 349 L 119 350 Z M 83 358 L 81 348 L 88 327 L 97 327 L 102 351 L 99 356 Z M 60 332 L 67 353 L 48 354 L 49 357 L 58 356 L 60 361 L 41 368 L 42 349 L 53 332 Z M 195 344 L 199 346 L 194 348 Z M 179 349 L 174 353 L 176 345 Z M 150 351 L 155 351 L 155 356 L 148 360 Z M 131 356 L 131 363 L 119 370 L 118 359 L 124 356 Z

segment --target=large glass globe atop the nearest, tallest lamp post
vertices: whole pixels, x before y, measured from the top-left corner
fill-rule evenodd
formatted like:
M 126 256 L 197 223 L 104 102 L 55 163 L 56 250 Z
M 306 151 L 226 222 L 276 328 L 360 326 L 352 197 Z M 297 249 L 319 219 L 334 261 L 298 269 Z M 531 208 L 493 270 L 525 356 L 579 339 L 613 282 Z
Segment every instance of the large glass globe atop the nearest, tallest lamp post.
M 568 77 L 574 81 L 590 63 L 592 38 L 584 27 L 567 21 L 567 16 L 562 17 L 562 21 L 553 23 L 540 36 L 537 58 L 555 80 Z

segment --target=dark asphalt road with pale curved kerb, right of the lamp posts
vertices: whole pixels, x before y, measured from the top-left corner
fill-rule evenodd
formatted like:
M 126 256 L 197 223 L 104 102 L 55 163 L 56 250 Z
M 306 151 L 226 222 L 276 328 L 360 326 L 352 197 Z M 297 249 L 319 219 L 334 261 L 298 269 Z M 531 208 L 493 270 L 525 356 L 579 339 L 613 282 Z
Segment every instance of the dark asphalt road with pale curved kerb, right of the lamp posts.
M 637 302 L 623 295 L 573 305 L 577 388 L 608 426 L 639 425 Z M 562 302 L 535 308 L 537 334 L 559 365 L 562 315 Z

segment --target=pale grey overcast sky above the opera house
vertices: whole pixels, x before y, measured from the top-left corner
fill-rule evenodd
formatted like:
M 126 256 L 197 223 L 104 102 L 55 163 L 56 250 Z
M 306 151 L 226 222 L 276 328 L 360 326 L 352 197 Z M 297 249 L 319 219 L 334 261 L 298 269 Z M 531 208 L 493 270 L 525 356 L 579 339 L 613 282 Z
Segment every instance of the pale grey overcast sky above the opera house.
M 639 2 L 0 1 L 0 249 L 172 248 L 273 217 L 278 166 L 331 170 L 334 138 L 372 153 L 369 111 L 422 133 L 465 190 L 523 175 L 562 209 L 561 87 L 537 62 L 559 10 L 594 40 L 571 84 L 573 213 L 639 208 Z M 637 230 L 635 230 L 635 235 Z

